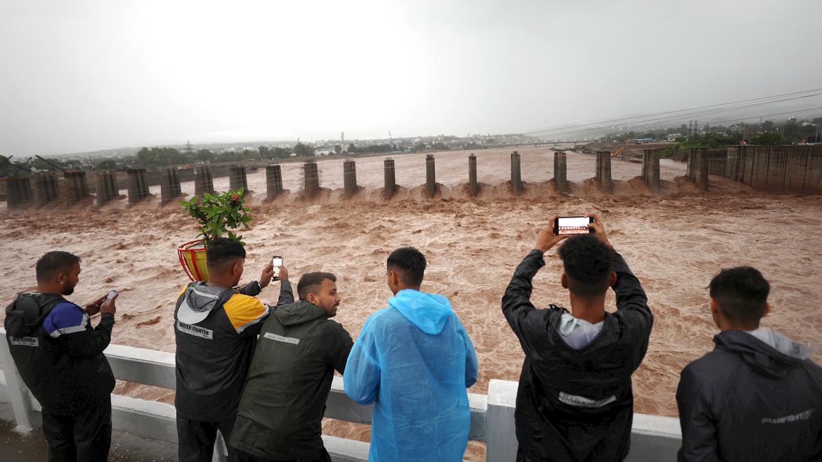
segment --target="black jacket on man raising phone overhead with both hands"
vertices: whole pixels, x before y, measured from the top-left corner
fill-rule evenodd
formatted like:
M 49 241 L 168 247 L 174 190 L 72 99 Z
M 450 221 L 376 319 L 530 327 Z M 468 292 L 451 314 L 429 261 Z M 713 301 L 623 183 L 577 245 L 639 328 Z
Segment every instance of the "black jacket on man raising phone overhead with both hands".
M 617 312 L 606 312 L 603 330 L 577 350 L 557 329 L 566 309 L 535 309 L 529 300 L 531 280 L 544 265 L 543 253 L 532 250 L 502 298 L 525 352 L 515 411 L 518 460 L 625 459 L 634 417 L 630 376 L 653 325 L 640 281 L 617 254 Z

